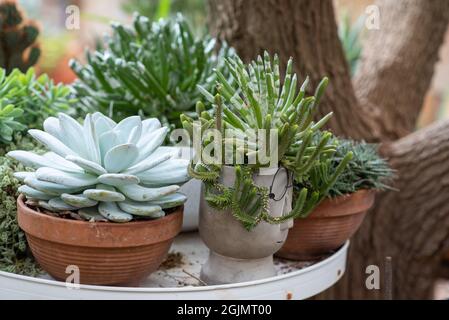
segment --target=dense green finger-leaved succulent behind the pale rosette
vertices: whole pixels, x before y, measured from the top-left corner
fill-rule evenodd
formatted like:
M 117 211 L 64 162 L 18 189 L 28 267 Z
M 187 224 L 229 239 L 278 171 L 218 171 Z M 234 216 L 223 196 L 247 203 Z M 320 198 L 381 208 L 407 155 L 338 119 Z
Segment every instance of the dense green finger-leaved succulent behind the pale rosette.
M 223 69 L 233 50 L 215 51 L 209 36 L 196 38 L 184 20 L 151 22 L 136 14 L 132 26 L 112 24 L 107 48 L 87 52 L 87 64 L 72 60 L 78 75 L 74 88 L 87 110 L 113 114 L 116 120 L 141 114 L 180 127 L 179 116 L 191 113 L 201 94 L 214 91 L 214 69 Z

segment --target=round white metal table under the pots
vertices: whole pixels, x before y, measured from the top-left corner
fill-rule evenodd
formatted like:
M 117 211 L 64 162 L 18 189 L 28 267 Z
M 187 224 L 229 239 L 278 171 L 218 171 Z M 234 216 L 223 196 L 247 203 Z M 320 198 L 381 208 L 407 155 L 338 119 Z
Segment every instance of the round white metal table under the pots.
M 196 232 L 184 233 L 171 248 L 171 253 L 181 255 L 181 263 L 153 273 L 138 288 L 80 285 L 69 289 L 48 275 L 34 278 L 0 272 L 0 299 L 306 299 L 343 276 L 348 247 L 349 242 L 316 263 L 275 259 L 278 275 L 272 278 L 207 286 L 198 276 L 209 251 Z

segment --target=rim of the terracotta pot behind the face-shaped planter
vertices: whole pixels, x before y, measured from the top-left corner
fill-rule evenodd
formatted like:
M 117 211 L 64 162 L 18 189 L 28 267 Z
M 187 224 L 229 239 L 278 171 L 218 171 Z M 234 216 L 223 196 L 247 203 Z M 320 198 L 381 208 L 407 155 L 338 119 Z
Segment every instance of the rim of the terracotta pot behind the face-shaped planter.
M 376 192 L 374 189 L 361 189 L 354 193 L 327 198 L 307 218 L 334 218 L 364 213 L 373 206 Z

